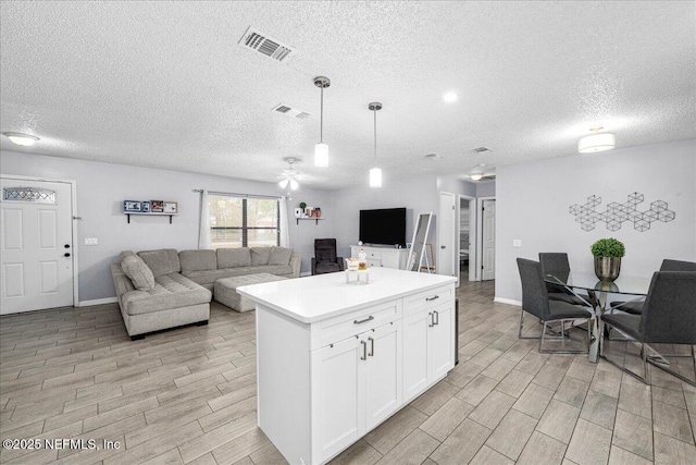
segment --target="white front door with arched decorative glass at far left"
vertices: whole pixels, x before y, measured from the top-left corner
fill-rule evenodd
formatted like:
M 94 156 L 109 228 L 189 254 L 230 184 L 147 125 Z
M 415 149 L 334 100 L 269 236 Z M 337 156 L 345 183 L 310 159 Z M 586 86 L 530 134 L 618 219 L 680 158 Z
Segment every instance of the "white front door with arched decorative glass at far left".
M 74 305 L 72 184 L 0 180 L 0 314 Z

